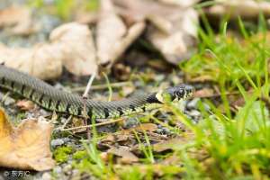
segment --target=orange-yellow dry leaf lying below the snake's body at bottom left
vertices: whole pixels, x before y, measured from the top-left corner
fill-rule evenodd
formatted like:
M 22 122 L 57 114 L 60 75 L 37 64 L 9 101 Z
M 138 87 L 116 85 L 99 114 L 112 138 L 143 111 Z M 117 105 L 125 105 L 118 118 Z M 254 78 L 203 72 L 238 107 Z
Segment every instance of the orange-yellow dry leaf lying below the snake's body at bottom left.
M 0 166 L 44 171 L 55 163 L 49 149 L 52 125 L 25 120 L 14 127 L 0 109 Z

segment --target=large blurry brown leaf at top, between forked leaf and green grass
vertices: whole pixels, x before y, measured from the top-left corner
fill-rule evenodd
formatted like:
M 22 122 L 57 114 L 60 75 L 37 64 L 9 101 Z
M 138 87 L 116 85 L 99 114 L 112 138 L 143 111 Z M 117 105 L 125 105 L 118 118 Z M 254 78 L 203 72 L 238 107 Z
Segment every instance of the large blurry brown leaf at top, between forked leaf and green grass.
M 192 7 L 168 5 L 157 1 L 113 0 L 127 22 L 150 21 L 146 37 L 164 55 L 178 64 L 190 58 L 196 43 L 198 15 Z

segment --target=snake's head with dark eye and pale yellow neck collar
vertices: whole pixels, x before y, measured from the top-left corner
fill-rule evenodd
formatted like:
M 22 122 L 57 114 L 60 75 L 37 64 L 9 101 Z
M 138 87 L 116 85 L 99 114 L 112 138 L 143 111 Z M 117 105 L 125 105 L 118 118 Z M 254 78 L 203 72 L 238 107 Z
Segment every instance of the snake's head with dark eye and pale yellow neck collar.
M 163 91 L 160 91 L 156 94 L 156 99 L 158 100 L 159 103 L 165 103 L 166 98 L 168 98 L 175 102 L 175 101 L 180 101 L 184 100 L 190 96 L 193 95 L 194 88 L 192 85 L 178 85 L 178 86 L 173 86 L 173 87 L 168 87 Z

